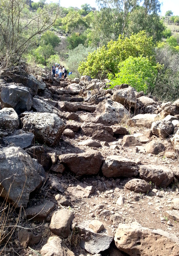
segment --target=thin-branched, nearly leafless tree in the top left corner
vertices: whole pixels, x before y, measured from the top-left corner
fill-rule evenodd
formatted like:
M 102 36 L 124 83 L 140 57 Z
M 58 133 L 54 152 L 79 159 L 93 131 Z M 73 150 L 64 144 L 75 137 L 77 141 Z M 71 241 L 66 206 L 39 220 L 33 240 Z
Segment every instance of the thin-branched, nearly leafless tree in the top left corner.
M 32 39 L 52 27 L 58 16 L 58 8 L 51 15 L 47 5 L 33 17 L 24 11 L 27 8 L 26 0 L 0 1 L 0 65 L 3 67 L 17 64 Z

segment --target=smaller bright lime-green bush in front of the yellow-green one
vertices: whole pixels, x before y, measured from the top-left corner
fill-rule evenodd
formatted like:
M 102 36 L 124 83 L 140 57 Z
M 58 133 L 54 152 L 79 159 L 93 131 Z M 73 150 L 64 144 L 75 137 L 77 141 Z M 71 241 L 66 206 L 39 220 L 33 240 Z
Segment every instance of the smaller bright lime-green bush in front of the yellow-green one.
M 119 63 L 119 73 L 111 80 L 111 88 L 115 85 L 129 84 L 137 91 L 147 92 L 148 87 L 153 87 L 153 81 L 157 75 L 157 69 L 149 59 L 130 56 Z

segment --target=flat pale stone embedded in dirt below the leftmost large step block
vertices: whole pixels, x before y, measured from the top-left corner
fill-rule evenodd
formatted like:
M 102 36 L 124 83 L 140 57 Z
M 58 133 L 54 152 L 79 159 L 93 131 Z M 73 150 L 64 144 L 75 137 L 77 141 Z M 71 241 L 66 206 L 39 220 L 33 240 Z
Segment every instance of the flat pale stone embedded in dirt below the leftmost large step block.
M 90 194 L 93 194 L 94 187 L 93 186 L 87 186 L 84 183 L 80 183 L 75 187 L 68 187 L 67 191 L 70 195 L 73 195 L 77 198 L 88 198 Z

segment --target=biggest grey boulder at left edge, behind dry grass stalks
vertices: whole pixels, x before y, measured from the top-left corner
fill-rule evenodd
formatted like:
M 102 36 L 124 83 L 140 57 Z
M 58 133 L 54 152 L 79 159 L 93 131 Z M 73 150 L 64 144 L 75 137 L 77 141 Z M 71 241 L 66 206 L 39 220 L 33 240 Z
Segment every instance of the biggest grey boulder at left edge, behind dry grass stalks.
M 42 183 L 30 155 L 20 147 L 0 149 L 0 196 L 26 207 L 29 195 Z

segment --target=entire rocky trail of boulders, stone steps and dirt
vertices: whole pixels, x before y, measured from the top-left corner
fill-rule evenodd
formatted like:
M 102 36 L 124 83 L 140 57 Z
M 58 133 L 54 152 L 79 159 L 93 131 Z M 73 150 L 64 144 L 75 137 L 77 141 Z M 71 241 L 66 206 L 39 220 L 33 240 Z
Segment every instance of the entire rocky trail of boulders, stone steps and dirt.
M 0 70 L 0 255 L 179 256 L 179 100 L 108 83 Z

